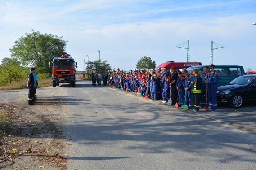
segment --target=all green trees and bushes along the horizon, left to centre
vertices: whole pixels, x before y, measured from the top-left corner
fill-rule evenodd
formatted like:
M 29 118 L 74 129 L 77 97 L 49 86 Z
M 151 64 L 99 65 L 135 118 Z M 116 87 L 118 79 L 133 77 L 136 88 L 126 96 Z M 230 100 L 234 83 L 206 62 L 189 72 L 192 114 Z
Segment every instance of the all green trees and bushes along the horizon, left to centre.
M 14 42 L 9 49 L 11 57 L 5 57 L 0 64 L 0 85 L 8 85 L 12 82 L 27 78 L 29 68 L 37 66 L 37 72 L 40 74 L 51 74 L 49 61 L 54 57 L 61 55 L 71 56 L 66 52 L 66 40 L 52 34 L 41 34 L 39 31 L 32 30 L 31 33 L 25 33 Z M 102 73 L 111 70 L 108 61 L 89 61 L 86 62 L 86 72 L 90 70 L 100 71 Z M 150 57 L 144 56 L 139 59 L 136 68 L 155 68 L 156 63 Z

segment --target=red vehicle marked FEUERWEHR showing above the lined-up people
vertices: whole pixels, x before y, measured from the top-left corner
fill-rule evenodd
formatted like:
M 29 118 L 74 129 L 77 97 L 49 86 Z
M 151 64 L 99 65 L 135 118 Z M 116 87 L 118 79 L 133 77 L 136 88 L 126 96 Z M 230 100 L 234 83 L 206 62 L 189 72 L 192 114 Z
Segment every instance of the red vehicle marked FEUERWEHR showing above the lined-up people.
M 170 73 L 171 66 L 175 66 L 177 69 L 183 69 L 183 68 L 189 68 L 192 66 L 199 66 L 202 65 L 201 62 L 174 62 L 174 61 L 166 61 L 165 63 L 162 63 L 157 66 L 157 68 L 164 68 L 166 67 L 167 72 Z

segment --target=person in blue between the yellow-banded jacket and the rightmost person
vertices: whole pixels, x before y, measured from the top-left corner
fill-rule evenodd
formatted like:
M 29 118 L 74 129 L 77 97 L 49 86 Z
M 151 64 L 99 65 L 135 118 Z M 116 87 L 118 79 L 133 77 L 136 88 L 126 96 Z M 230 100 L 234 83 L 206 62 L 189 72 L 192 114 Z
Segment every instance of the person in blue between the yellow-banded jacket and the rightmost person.
M 205 83 L 206 80 L 208 80 L 208 72 L 209 72 L 209 66 L 205 66 L 203 68 L 203 74 L 202 74 L 202 92 L 201 92 L 201 107 L 204 109 L 208 109 L 208 107 L 206 108 L 206 106 L 208 106 L 208 102 L 209 102 L 209 96 L 206 95 L 207 94 L 207 84 Z M 206 99 L 207 96 L 207 99 Z

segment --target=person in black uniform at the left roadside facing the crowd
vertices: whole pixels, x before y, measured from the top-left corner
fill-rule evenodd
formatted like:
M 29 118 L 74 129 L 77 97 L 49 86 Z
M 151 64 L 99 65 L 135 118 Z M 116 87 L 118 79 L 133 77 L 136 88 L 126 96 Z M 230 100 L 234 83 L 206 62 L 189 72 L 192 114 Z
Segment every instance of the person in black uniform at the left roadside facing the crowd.
M 36 87 L 36 82 L 34 80 L 35 68 L 31 68 L 30 73 L 28 74 L 27 87 L 28 87 L 28 104 L 34 105 L 34 91 Z

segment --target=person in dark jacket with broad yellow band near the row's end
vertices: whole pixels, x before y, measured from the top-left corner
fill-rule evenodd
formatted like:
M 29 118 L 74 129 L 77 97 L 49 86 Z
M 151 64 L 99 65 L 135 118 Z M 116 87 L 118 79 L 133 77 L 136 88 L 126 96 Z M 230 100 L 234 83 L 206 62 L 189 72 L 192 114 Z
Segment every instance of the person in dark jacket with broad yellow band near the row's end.
M 193 81 L 191 81 L 193 93 L 193 112 L 198 112 L 200 109 L 202 78 L 198 72 L 198 69 L 193 69 L 194 77 Z

